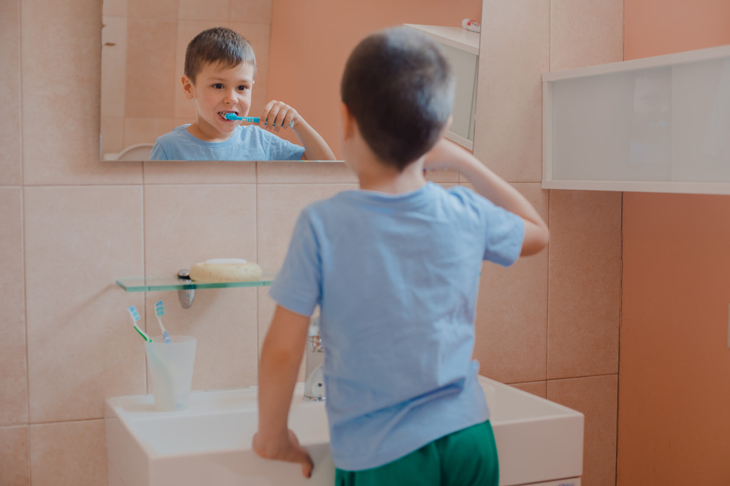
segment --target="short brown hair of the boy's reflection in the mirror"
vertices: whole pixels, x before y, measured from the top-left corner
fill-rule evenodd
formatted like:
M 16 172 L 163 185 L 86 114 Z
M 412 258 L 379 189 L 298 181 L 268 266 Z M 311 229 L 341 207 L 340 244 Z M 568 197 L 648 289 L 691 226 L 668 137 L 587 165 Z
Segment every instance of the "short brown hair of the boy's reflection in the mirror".
M 230 28 L 214 27 L 193 37 L 185 50 L 185 76 L 195 82 L 206 63 L 218 63 L 224 68 L 234 68 L 249 63 L 256 72 L 256 56 L 253 47 L 238 32 Z

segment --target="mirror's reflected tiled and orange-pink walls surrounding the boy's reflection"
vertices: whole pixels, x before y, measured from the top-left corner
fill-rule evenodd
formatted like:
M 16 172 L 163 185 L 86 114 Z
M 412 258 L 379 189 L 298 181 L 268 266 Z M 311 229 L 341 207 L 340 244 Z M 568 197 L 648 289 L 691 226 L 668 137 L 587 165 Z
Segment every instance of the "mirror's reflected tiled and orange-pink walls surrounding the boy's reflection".
M 461 28 L 481 0 L 104 0 L 101 160 L 148 160 L 155 138 L 194 121 L 183 95 L 185 47 L 226 26 L 252 44 L 250 116 L 272 100 L 299 111 L 339 157 L 339 79 L 367 34 L 404 23 Z M 299 144 L 293 130 L 282 138 Z M 120 158 L 121 157 L 121 158 Z

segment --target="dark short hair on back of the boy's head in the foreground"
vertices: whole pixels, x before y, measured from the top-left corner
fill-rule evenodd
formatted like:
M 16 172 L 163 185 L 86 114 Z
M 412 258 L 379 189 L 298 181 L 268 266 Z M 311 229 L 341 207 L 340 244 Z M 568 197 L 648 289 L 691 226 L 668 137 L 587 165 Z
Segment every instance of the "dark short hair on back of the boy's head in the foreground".
M 355 47 L 340 93 L 374 154 L 403 171 L 438 141 L 453 110 L 454 89 L 439 44 L 415 29 L 395 27 Z

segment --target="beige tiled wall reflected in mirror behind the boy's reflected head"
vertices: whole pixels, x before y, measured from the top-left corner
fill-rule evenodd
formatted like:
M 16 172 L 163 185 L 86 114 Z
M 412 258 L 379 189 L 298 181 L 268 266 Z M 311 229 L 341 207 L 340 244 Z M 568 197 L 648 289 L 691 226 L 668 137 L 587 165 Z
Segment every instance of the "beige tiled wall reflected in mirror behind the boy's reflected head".
M 271 0 L 105 0 L 101 153 L 153 143 L 177 125 L 194 120 L 180 78 L 185 47 L 205 28 L 230 27 L 251 42 L 258 65 L 252 111 L 262 109 L 271 6 Z

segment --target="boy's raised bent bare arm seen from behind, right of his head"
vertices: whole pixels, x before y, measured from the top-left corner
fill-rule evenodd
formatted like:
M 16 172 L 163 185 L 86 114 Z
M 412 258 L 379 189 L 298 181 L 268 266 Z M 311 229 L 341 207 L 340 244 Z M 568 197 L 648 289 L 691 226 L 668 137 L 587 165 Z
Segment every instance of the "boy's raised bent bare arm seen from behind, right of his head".
M 460 146 L 441 138 L 426 154 L 425 169 L 451 169 L 466 176 L 477 193 L 520 216 L 525 222 L 521 256 L 536 254 L 548 246 L 548 225 L 529 201 L 496 173 Z

